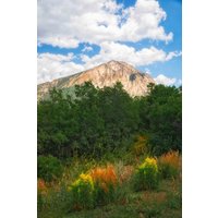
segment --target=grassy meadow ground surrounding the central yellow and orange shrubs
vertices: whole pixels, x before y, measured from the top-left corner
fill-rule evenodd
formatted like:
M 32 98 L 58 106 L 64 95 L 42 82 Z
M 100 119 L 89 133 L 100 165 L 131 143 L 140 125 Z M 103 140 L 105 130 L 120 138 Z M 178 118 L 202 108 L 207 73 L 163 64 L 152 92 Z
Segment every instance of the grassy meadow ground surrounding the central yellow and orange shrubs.
M 118 158 L 114 160 L 83 160 L 74 159 L 64 169 L 63 175 L 55 182 L 47 183 L 38 180 L 38 217 L 40 218 L 119 218 L 119 217 L 182 217 L 182 187 L 181 187 L 181 156 L 167 160 L 168 169 L 161 171 L 161 159 L 158 158 L 158 186 L 155 189 L 135 190 L 134 175 L 144 160 L 144 155 Z M 160 161 L 161 160 L 161 161 Z M 74 207 L 71 184 L 82 173 L 90 172 L 96 168 L 111 166 L 114 169 L 117 183 L 108 201 L 97 202 L 93 207 Z M 173 171 L 173 172 L 172 172 Z M 167 175 L 167 177 L 166 177 Z M 138 183 L 138 185 L 141 182 Z M 105 191 L 110 195 L 107 190 Z M 87 195 L 82 202 L 86 202 Z M 39 203 L 40 202 L 40 203 Z

